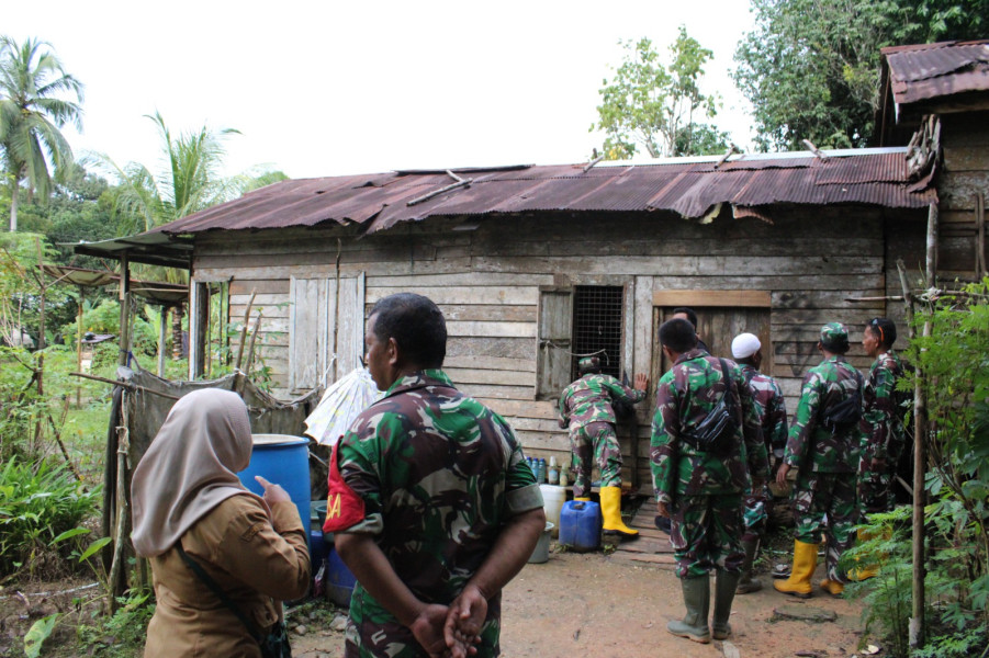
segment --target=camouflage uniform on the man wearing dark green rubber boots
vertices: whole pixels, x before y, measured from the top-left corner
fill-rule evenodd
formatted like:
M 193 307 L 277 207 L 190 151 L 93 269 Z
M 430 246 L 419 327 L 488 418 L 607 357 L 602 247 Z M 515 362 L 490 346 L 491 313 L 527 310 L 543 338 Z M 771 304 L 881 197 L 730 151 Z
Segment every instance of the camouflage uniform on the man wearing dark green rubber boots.
M 738 365 L 724 362 L 733 382 L 729 395 L 742 420 L 737 442 L 724 455 L 698 451 L 681 439 L 724 393 L 718 359 L 700 349 L 681 354 L 656 389 L 650 461 L 656 500 L 667 504 L 673 520 L 670 542 L 679 578 L 705 576 L 715 567 L 739 572 L 744 557 L 742 494 L 751 486 L 750 473 L 768 476 L 756 406 Z

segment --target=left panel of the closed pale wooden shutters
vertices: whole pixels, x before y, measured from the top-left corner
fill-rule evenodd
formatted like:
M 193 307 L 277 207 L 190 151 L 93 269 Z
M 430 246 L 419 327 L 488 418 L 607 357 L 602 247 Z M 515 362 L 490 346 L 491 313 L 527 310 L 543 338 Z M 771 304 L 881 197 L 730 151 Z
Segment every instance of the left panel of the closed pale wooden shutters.
M 312 389 L 326 372 L 328 286 L 326 279 L 296 279 L 290 284 L 289 389 Z

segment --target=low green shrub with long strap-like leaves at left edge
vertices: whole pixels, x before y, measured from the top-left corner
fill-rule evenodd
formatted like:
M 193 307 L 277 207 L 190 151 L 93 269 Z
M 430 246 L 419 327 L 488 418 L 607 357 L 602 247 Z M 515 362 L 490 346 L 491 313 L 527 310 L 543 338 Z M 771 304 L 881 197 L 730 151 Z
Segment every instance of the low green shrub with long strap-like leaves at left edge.
M 78 527 L 95 510 L 99 488 L 87 491 L 72 473 L 47 460 L 31 466 L 11 458 L 0 469 L 0 577 L 25 567 L 33 575 L 41 559 L 64 559 L 68 544 L 55 538 Z

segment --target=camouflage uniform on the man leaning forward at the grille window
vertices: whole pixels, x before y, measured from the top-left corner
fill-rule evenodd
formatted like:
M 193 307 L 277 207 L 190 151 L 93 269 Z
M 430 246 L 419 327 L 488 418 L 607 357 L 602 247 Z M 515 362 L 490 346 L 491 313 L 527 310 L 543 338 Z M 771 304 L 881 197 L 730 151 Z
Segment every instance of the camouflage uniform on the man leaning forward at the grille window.
M 621 486 L 621 449 L 615 434 L 611 401 L 636 404 L 644 398 L 644 390 L 629 388 L 611 375 L 600 373 L 586 374 L 563 389 L 560 426 L 567 427 L 567 422 L 570 426 L 575 498 L 591 494 L 592 464 L 597 464 L 600 470 L 602 487 Z

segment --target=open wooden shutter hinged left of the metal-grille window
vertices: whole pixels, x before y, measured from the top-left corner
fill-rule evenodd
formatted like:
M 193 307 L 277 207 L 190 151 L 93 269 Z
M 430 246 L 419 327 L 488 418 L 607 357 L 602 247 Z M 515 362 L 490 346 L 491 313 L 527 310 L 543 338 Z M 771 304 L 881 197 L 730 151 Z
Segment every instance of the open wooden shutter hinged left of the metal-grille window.
M 573 344 L 573 288 L 540 287 L 536 399 L 552 400 L 570 385 Z

